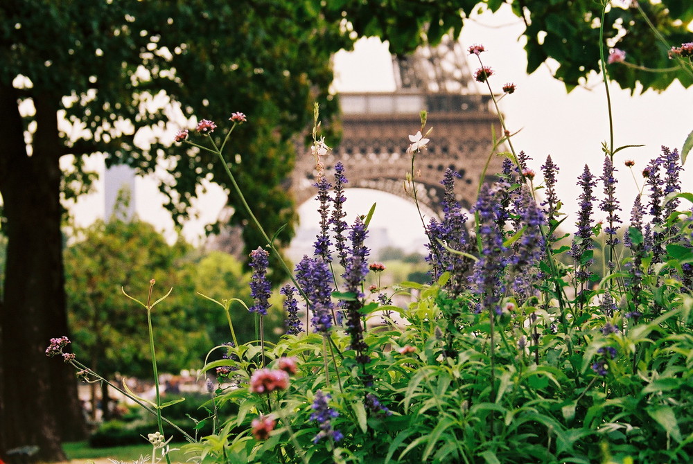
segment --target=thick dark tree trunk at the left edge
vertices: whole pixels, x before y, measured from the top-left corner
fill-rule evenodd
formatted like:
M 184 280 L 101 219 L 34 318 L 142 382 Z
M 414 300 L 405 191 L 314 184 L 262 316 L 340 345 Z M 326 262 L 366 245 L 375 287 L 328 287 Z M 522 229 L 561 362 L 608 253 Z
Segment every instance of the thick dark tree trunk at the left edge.
M 67 334 L 60 224 L 60 139 L 55 101 L 36 96 L 37 129 L 27 156 L 17 94 L 0 84 L 0 193 L 8 238 L 0 307 L 2 415 L 7 449 L 36 445 L 35 458 L 64 460 L 62 438 L 85 434 L 73 369 L 45 355 Z M 4 454 L 3 452 L 3 454 Z

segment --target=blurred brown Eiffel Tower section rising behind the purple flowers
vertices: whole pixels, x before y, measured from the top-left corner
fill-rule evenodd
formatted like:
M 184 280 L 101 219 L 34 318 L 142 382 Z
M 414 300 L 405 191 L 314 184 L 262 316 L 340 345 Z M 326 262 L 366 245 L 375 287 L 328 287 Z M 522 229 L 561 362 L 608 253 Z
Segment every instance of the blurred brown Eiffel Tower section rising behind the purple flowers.
M 441 213 L 440 181 L 450 168 L 462 176 L 455 193 L 462 206 L 469 208 L 493 150 L 491 127 L 495 134 L 502 132 L 498 115 L 491 109 L 491 96 L 476 91 L 465 51 L 449 37 L 439 46 L 422 46 L 412 55 L 393 57 L 393 65 L 395 91 L 340 93 L 342 141 L 324 164 L 331 169 L 342 161 L 347 188 L 382 190 L 411 200 L 403 187 L 411 172 L 408 135 L 420 129 L 419 111 L 426 109 L 426 127 L 432 128 L 430 143 L 414 161 L 419 202 L 428 211 Z M 500 158 L 491 156 L 486 179 L 500 168 Z M 316 175 L 315 159 L 305 150 L 297 157 L 290 181 L 297 204 L 315 195 Z

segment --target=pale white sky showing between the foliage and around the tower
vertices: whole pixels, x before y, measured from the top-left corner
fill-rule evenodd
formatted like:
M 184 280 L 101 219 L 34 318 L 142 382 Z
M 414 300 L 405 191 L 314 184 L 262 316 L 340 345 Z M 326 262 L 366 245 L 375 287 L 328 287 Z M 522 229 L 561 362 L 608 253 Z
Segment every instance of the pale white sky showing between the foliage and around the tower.
M 550 65 L 543 65 L 532 75 L 526 75 L 526 55 L 521 40 L 518 40 L 522 30 L 520 19 L 504 7 L 495 15 L 484 14 L 468 19 L 460 41 L 465 49 L 472 44 L 484 45 L 486 52 L 481 58 L 484 65 L 491 66 L 494 71 L 490 82 L 495 91 L 500 93 L 506 82 L 517 85 L 516 92 L 500 102 L 510 132 L 519 131 L 512 139 L 513 145 L 517 151 L 523 150 L 532 157 L 529 167 L 537 173 L 535 184 L 541 182 L 541 166 L 546 156 L 551 155 L 560 168 L 556 191 L 564 204 L 561 211 L 569 215 L 565 224 L 574 224 L 580 193 L 575 186 L 577 176 L 585 164 L 594 174 L 601 175 L 602 172 L 602 142 L 609 139 L 604 83 L 599 76 L 593 76 L 588 80 L 589 88 L 578 87 L 566 93 L 563 84 L 551 77 Z M 337 53 L 334 63 L 335 91 L 394 90 L 387 44 L 379 39 L 362 39 L 353 52 Z M 479 67 L 474 55 L 468 57 L 468 65 L 472 71 Z M 644 145 L 615 155 L 615 166 L 619 170 L 617 195 L 624 209 L 621 216 L 628 218 L 633 199 L 642 187 L 640 172 L 644 166 L 660 153 L 661 146 L 680 150 L 687 134 L 693 130 L 693 89 L 683 89 L 675 82 L 662 93 L 647 91 L 631 96 L 630 91 L 619 89 L 612 83 L 610 91 L 615 146 Z M 405 139 L 407 135 L 402 134 Z M 435 143 L 435 132 L 431 139 L 431 143 Z M 426 153 L 421 156 L 425 157 Z M 635 176 L 624 166 L 626 159 L 635 161 Z M 95 168 L 103 169 L 100 167 L 103 161 L 95 159 L 93 163 Z M 687 165 L 691 163 L 693 161 Z M 681 175 L 683 190 L 690 192 L 693 191 L 693 168 L 685 167 L 689 172 L 684 171 Z M 207 193 L 195 203 L 198 217 L 183 229 L 186 238 L 195 243 L 200 243 L 204 224 L 216 220 L 225 202 L 220 188 L 213 185 L 205 188 Z M 96 184 L 96 189 L 95 194 L 80 199 L 72 208 L 78 224 L 86 225 L 95 217 L 103 216 L 103 194 L 98 192 L 103 189 L 103 181 Z M 598 188 L 597 197 L 600 194 Z M 161 208 L 163 197 L 157 191 L 156 175 L 138 178 L 136 195 L 139 217 L 155 224 L 169 238 L 173 237 L 173 221 Z M 419 249 L 423 244 L 421 219 L 414 206 L 406 200 L 363 189 L 347 190 L 347 197 L 350 217 L 366 213 L 371 204 L 377 203 L 371 226 L 386 227 L 391 232 L 394 245 Z M 316 224 L 316 206 L 315 202 L 308 201 L 299 207 L 302 227 Z

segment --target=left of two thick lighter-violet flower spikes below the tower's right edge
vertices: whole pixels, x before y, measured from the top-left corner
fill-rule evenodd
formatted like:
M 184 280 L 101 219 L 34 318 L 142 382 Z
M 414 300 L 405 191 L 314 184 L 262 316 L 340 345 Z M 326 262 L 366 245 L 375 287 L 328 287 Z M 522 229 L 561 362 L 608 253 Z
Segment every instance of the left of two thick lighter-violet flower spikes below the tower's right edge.
M 475 211 L 479 216 L 478 234 L 482 244 L 482 253 L 475 263 L 472 276 L 475 292 L 481 296 L 481 310 L 489 310 L 501 314 L 499 302 L 504 293 L 500 276 L 505 269 L 506 260 L 503 255 L 503 239 L 498 227 L 498 199 L 489 184 L 482 186 Z

